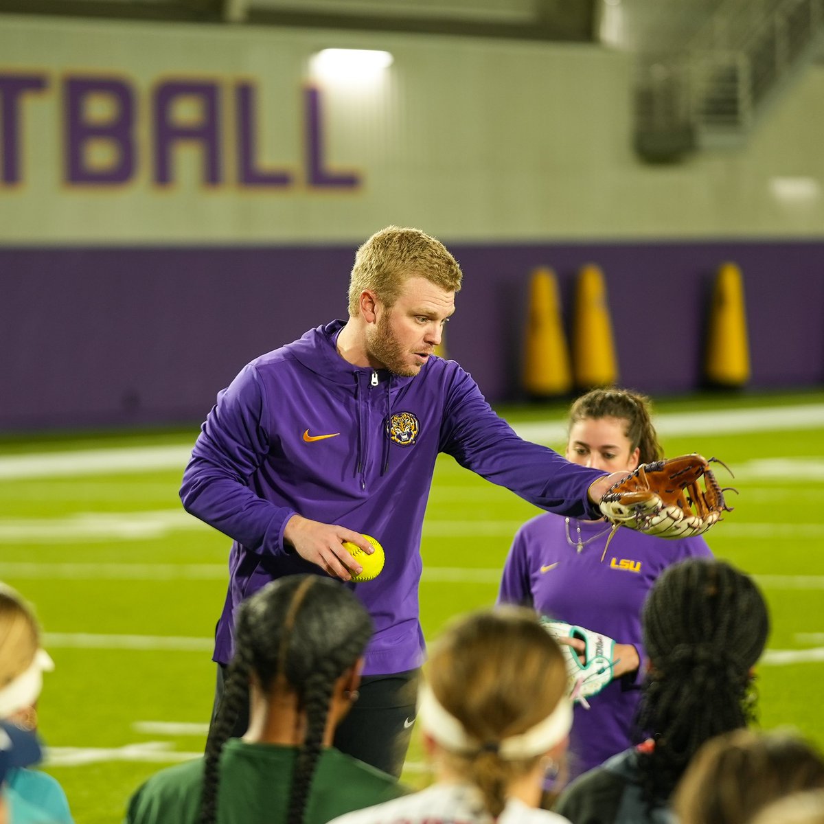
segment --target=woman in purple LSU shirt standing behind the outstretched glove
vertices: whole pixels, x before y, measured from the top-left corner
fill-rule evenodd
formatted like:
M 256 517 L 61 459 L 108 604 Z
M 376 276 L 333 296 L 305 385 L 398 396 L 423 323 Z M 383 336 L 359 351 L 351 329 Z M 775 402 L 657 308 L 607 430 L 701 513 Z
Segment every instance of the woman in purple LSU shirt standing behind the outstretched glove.
M 565 456 L 607 472 L 633 471 L 658 461 L 662 448 L 648 397 L 628 389 L 593 389 L 569 410 Z M 588 705 L 575 705 L 569 742 L 569 775 L 602 764 L 632 743 L 632 719 L 644 678 L 641 606 L 670 564 L 710 557 L 701 536 L 670 541 L 551 513 L 525 523 L 503 569 L 499 602 L 531 606 L 545 616 L 613 639 L 614 664 Z M 583 642 L 567 639 L 583 653 Z M 583 672 L 586 677 L 587 672 Z M 547 789 L 552 789 L 550 786 Z

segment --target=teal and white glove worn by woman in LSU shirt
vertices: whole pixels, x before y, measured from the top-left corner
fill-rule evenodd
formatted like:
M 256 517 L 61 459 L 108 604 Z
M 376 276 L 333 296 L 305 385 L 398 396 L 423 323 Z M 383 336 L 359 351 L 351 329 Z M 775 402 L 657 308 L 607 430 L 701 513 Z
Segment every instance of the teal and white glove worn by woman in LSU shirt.
M 544 629 L 559 642 L 567 665 L 569 697 L 589 707 L 588 698 L 597 695 L 612 680 L 615 667 L 616 642 L 608 635 L 586 630 L 581 626 L 567 624 L 566 621 L 541 616 Z M 570 646 L 569 639 L 579 639 L 584 643 L 583 653 Z M 580 655 L 583 654 L 583 662 Z

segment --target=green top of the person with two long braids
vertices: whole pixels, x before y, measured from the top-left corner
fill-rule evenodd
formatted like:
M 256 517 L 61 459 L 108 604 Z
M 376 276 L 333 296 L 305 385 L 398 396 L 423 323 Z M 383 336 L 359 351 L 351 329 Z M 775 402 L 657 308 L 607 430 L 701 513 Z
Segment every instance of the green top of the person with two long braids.
M 250 744 L 230 738 L 221 754 L 218 824 L 285 821 L 297 747 Z M 204 760 L 186 761 L 152 775 L 129 800 L 126 824 L 197 824 Z M 304 824 L 326 824 L 344 812 L 408 792 L 391 775 L 326 747 L 319 757 Z

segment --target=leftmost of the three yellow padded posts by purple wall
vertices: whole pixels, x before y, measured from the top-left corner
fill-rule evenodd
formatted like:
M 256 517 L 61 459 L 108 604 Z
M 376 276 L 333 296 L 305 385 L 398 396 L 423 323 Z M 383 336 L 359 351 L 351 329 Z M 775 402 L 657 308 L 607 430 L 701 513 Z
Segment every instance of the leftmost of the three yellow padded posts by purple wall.
M 565 395 L 572 388 L 558 283 L 552 269 L 536 269 L 530 280 L 523 386 L 536 398 Z

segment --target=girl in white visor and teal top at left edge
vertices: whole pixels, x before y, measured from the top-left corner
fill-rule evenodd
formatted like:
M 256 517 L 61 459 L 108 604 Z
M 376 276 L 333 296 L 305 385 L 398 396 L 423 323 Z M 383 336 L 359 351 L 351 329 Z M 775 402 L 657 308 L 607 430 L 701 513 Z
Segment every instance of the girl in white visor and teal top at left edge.
M 54 663 L 40 647 L 40 626 L 31 607 L 0 583 L 0 720 L 33 731 L 43 673 Z M 51 775 L 23 767 L 7 772 L 3 785 L 13 824 L 73 824 L 63 788 Z

